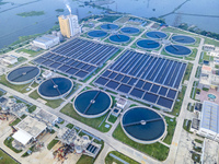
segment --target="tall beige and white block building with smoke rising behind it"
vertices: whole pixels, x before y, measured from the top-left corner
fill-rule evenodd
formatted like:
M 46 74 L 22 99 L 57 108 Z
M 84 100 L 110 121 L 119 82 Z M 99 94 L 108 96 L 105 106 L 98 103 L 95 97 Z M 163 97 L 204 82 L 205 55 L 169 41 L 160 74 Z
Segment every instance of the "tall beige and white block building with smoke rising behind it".
M 76 34 L 81 33 L 81 27 L 78 23 L 78 16 L 77 15 L 60 15 L 58 17 L 61 34 L 64 36 L 67 36 L 70 38 L 71 36 L 74 36 Z

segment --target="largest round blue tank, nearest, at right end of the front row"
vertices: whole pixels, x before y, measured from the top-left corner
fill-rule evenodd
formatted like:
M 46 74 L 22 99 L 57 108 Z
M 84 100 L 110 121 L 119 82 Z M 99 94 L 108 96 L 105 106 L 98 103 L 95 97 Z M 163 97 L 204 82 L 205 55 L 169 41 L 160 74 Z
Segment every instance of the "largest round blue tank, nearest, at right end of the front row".
M 138 143 L 150 144 L 164 137 L 166 124 L 155 110 L 132 107 L 122 116 L 122 128 L 128 138 Z

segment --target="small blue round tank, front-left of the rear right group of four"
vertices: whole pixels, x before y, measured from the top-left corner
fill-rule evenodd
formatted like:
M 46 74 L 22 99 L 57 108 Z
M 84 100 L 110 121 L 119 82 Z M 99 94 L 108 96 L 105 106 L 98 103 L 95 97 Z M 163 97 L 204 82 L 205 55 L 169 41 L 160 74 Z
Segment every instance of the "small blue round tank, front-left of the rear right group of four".
M 160 47 L 160 44 L 152 39 L 140 39 L 136 43 L 136 45 L 143 49 L 157 49 Z

